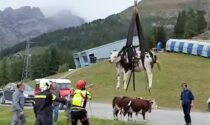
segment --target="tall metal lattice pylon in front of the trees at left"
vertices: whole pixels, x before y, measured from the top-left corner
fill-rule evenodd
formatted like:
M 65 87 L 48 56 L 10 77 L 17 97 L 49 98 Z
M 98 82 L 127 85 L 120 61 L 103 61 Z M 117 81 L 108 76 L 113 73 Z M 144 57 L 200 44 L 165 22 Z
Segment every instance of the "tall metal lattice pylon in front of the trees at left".
M 21 80 L 27 80 L 31 78 L 31 49 L 30 40 L 26 41 L 26 49 L 23 55 L 23 70 Z

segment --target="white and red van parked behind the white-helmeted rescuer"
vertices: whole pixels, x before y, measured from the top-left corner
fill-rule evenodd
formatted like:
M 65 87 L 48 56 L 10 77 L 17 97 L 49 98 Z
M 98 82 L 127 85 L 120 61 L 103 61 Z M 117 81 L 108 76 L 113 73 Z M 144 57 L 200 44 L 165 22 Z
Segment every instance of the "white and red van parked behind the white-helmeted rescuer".
M 35 79 L 35 95 L 39 94 L 41 84 L 45 82 L 55 82 L 59 89 L 59 94 L 61 98 L 67 99 L 68 96 L 73 93 L 73 89 L 71 88 L 71 81 L 68 79 Z M 64 105 L 60 103 L 59 107 L 60 109 L 63 109 Z

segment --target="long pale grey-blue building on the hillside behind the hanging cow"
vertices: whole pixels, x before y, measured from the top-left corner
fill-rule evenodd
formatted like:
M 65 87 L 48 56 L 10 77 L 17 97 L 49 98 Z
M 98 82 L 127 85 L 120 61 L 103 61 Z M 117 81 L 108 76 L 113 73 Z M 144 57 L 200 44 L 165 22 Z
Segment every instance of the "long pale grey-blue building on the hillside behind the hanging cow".
M 84 50 L 73 54 L 76 68 L 81 68 L 95 63 L 97 60 L 108 59 L 111 51 L 120 51 L 126 45 L 126 40 L 119 40 L 92 49 Z M 133 44 L 139 45 L 138 37 L 133 38 Z

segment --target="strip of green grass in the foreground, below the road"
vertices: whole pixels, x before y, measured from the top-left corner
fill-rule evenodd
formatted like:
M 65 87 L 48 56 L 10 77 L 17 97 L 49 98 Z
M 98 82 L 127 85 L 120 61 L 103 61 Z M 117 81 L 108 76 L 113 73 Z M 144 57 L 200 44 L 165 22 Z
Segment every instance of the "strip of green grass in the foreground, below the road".
M 25 109 L 26 125 L 34 125 L 34 113 L 32 109 Z M 60 113 L 59 120 L 54 125 L 68 125 L 64 113 Z M 0 106 L 0 124 L 10 125 L 12 120 L 12 110 L 9 107 Z M 90 119 L 91 125 L 137 125 L 137 123 L 120 122 L 113 120 Z M 79 124 L 80 125 L 80 124 Z M 143 125 L 138 123 L 138 125 Z

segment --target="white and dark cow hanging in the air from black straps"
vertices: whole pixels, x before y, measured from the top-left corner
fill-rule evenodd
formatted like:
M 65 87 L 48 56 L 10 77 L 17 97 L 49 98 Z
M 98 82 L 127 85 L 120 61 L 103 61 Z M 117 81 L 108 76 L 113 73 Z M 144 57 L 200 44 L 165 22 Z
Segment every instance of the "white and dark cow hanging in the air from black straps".
M 153 79 L 153 74 L 152 74 L 153 65 L 157 63 L 158 69 L 160 68 L 157 56 L 153 51 L 146 53 L 144 57 L 144 65 L 142 64 L 142 61 L 140 59 L 141 52 L 136 50 L 135 56 L 136 56 L 136 61 L 135 61 L 136 64 L 134 64 L 135 68 L 145 72 L 147 76 L 146 77 L 146 82 L 148 84 L 147 88 L 150 90 L 152 87 L 152 79 Z M 118 51 L 111 52 L 110 62 L 115 63 L 117 69 L 117 86 L 116 86 L 117 89 L 120 87 L 121 75 L 123 75 L 124 89 L 125 90 L 127 89 L 128 79 L 132 71 L 132 66 L 129 65 L 131 63 L 128 63 L 127 61 L 128 61 L 127 57 L 119 55 Z

